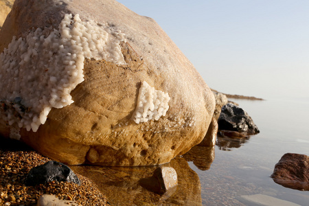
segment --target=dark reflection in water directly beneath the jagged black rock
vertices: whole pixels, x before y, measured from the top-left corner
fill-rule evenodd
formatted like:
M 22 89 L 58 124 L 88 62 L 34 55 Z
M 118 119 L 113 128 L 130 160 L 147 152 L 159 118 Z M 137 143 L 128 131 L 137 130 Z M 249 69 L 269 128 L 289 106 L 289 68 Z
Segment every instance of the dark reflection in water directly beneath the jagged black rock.
M 221 130 L 218 132 L 216 146 L 220 150 L 231 151 L 231 148 L 240 148 L 250 139 L 250 136 L 230 133 L 231 131 Z

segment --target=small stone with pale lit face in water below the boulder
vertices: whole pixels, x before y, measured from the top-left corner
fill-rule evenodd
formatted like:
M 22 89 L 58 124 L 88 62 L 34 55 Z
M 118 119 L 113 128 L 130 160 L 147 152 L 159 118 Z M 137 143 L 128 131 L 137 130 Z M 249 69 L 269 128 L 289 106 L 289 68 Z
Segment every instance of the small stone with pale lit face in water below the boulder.
M 157 194 L 174 193 L 178 184 L 177 174 L 174 168 L 160 167 L 152 176 L 139 181 L 142 187 Z M 172 192 L 170 192 L 172 191 Z

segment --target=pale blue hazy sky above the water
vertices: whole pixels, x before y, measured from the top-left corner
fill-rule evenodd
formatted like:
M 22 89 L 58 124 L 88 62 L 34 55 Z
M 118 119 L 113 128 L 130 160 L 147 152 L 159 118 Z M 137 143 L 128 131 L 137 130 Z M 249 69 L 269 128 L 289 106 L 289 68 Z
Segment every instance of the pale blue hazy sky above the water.
M 119 0 L 155 19 L 209 87 L 309 101 L 308 0 Z

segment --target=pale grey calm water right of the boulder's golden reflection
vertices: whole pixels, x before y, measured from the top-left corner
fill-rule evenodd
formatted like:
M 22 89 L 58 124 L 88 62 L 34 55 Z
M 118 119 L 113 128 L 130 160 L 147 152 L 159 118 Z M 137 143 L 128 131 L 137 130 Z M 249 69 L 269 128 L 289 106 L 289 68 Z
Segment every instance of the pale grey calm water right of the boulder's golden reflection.
M 234 200 L 235 202 L 232 202 L 235 204 L 236 201 L 240 201 L 244 205 L 256 205 L 252 201 L 247 201 L 245 196 L 262 194 L 258 197 L 266 202 L 268 196 L 271 196 L 291 202 L 286 203 L 288 205 L 293 205 L 292 203 L 309 205 L 308 191 L 277 185 L 269 177 L 273 173 L 275 163 L 285 153 L 309 155 L 307 132 L 309 102 L 235 101 L 253 118 L 260 129 L 260 134 L 252 136 L 246 142 L 237 144 L 236 141 L 229 144 L 231 148 L 227 148 L 225 146 L 227 144 L 218 145 L 220 143 L 218 139 L 214 162 L 209 170 L 198 170 L 194 163 L 190 163 L 191 168 L 201 179 L 203 205 L 215 204 L 217 200 L 211 198 L 211 194 L 219 198 L 218 192 L 222 196 L 221 199 L 227 202 Z M 216 181 L 210 181 L 211 179 Z M 218 205 L 225 203 L 221 202 Z

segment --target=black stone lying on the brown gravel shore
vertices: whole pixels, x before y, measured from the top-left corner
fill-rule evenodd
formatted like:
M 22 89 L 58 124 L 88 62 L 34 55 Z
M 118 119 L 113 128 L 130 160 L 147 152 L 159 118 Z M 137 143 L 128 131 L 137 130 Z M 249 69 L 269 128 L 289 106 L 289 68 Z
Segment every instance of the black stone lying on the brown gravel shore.
M 80 180 L 76 174 L 67 165 L 57 161 L 48 161 L 43 165 L 32 168 L 26 176 L 25 185 L 34 186 L 52 181 L 66 181 L 80 185 Z

